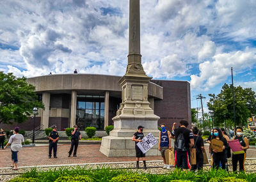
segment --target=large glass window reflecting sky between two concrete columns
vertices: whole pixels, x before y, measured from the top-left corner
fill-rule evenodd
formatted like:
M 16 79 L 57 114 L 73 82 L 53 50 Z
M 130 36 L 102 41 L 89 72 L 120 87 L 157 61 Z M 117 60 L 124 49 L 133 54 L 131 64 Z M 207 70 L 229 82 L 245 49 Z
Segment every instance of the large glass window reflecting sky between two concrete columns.
M 104 129 L 104 96 L 77 95 L 76 124 L 79 130 L 87 127 Z

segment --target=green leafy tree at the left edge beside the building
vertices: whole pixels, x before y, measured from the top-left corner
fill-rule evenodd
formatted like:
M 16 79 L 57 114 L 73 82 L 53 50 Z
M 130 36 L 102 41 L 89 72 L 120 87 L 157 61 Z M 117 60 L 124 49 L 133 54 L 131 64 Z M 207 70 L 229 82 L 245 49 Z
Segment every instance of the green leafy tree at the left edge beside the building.
M 0 123 L 27 121 L 34 106 L 44 109 L 44 103 L 38 101 L 35 86 L 28 84 L 25 77 L 0 72 Z

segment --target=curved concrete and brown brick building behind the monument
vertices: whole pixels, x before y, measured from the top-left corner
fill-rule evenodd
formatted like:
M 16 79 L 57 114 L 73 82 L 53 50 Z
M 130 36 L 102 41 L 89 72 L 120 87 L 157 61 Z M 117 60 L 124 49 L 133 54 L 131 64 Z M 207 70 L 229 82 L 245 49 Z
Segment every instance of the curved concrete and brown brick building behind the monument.
M 113 125 L 112 118 L 122 102 L 121 77 L 93 74 L 44 75 L 29 78 L 36 86 L 38 98 L 45 110 L 38 110 L 36 126 L 44 128 L 56 125 L 58 130 L 75 124 L 80 130 L 93 126 L 104 130 Z M 151 80 L 148 84 L 148 101 L 154 114 L 160 117 L 158 126 L 166 123 L 171 130 L 174 122 L 186 119 L 191 123 L 190 84 L 186 81 Z M 25 123 L 0 125 L 4 130 L 33 130 L 33 118 Z

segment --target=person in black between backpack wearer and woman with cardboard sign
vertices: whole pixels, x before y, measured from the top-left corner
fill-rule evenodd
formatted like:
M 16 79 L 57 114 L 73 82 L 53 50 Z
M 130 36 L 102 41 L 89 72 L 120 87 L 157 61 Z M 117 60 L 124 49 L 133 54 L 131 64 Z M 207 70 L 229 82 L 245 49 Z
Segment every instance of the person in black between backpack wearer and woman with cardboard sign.
M 195 140 L 193 148 L 196 148 L 196 165 L 191 165 L 190 171 L 196 171 L 196 169 L 202 170 L 204 165 L 204 155 L 202 151 L 202 149 L 204 149 L 204 140 L 198 135 L 199 130 L 197 127 L 194 127 L 192 131 Z

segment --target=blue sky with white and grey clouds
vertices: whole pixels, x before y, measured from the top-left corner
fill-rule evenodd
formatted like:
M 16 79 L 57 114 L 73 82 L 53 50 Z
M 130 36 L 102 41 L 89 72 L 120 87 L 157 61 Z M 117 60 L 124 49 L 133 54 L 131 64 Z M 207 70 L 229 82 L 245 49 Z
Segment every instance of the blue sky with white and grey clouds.
M 187 80 L 193 96 L 231 83 L 256 91 L 256 1 L 140 0 L 141 54 L 154 79 Z M 0 71 L 124 75 L 129 0 L 0 1 Z

